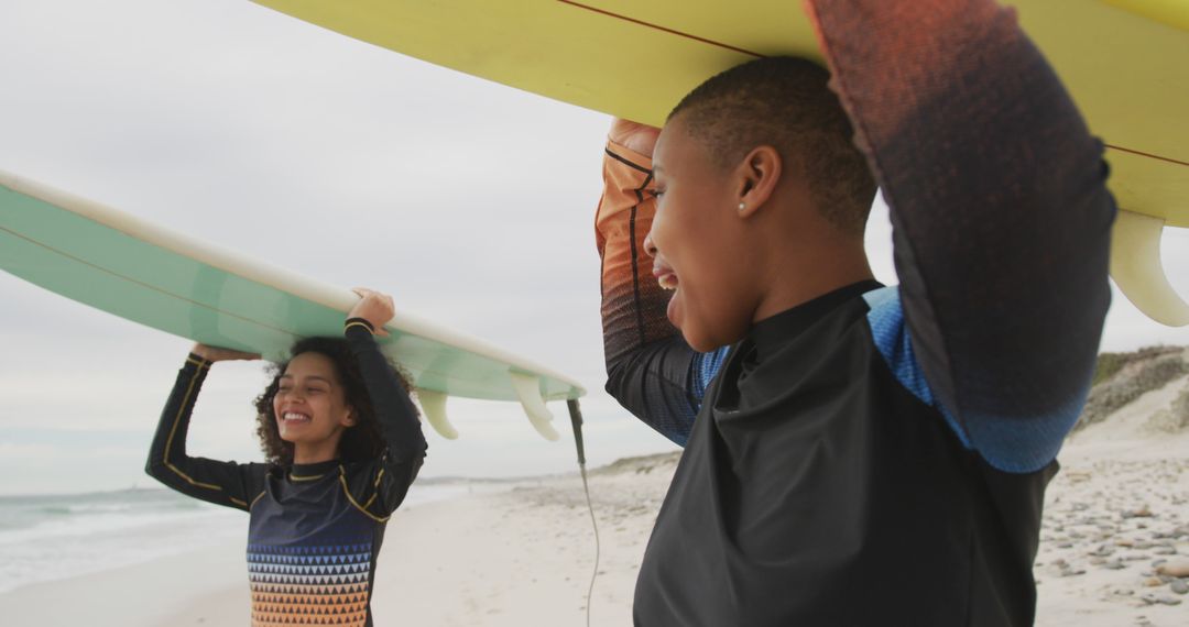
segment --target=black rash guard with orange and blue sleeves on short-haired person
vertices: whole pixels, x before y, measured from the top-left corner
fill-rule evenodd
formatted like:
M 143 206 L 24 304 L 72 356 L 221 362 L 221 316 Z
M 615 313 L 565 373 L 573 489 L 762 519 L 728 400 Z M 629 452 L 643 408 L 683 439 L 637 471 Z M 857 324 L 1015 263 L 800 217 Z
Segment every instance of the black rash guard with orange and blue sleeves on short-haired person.
M 685 446 L 635 623 L 1032 625 L 1044 489 L 1109 302 L 1101 144 L 993 1 L 806 6 L 901 284 L 696 353 L 643 252 L 652 164 L 608 145 L 606 388 Z

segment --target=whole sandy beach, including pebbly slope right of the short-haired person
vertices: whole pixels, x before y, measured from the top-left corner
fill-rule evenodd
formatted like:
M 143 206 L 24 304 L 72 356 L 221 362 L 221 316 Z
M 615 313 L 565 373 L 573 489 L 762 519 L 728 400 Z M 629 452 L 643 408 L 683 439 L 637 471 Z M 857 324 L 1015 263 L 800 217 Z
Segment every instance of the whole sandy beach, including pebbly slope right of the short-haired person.
M 1037 625 L 1189 625 L 1189 432 L 1153 426 L 1189 378 L 1070 438 L 1046 499 Z M 602 539 L 591 625 L 630 625 L 640 559 L 674 454 L 590 476 Z M 594 538 L 577 474 L 402 508 L 389 524 L 376 623 L 585 623 Z M 1189 571 L 1185 572 L 1189 575 Z M 247 625 L 239 543 L 0 595 L 4 625 Z

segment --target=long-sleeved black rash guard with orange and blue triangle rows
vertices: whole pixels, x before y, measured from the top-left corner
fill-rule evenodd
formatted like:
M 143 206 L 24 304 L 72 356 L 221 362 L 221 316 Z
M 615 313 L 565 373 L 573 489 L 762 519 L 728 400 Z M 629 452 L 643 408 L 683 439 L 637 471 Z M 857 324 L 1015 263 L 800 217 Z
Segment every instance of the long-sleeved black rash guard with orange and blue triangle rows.
M 147 471 L 203 501 L 250 512 L 252 625 L 371 626 L 371 588 L 384 526 L 421 468 L 416 408 L 361 324 L 346 337 L 388 449 L 375 460 L 294 464 L 190 457 L 185 435 L 210 362 L 190 355 L 162 413 Z

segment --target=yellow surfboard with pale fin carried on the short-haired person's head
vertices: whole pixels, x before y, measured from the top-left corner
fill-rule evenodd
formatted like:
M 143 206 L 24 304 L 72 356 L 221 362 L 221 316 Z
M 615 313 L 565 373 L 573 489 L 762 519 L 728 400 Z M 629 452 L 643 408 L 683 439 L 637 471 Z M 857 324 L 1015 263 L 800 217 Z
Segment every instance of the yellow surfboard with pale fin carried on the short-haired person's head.
M 751 58 L 820 58 L 792 0 L 256 0 L 430 63 L 660 126 L 707 77 Z M 1189 227 L 1189 0 L 1014 0 L 1107 144 L 1122 211 L 1111 273 L 1146 315 L 1189 324 L 1160 267 Z

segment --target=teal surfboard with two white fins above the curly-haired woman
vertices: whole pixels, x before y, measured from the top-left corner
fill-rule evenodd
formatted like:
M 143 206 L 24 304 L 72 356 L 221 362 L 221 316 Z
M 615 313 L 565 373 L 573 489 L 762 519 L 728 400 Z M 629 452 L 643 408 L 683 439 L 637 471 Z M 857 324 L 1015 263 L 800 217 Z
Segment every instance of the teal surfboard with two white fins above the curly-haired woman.
M 278 361 L 301 337 L 338 336 L 358 297 L 49 186 L 0 172 L 0 270 L 122 318 Z M 446 279 L 446 277 L 443 277 Z M 547 401 L 581 385 L 518 355 L 398 311 L 379 340 L 426 419 L 457 430 L 446 398 L 518 401 L 556 439 Z

